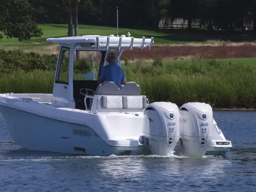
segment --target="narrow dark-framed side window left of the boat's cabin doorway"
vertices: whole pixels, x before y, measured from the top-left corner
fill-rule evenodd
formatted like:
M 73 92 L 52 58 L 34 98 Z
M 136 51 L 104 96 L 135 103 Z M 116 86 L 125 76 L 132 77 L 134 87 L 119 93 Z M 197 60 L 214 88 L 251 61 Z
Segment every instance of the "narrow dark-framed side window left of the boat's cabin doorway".
M 69 48 L 62 47 L 57 71 L 56 83 L 68 84 Z

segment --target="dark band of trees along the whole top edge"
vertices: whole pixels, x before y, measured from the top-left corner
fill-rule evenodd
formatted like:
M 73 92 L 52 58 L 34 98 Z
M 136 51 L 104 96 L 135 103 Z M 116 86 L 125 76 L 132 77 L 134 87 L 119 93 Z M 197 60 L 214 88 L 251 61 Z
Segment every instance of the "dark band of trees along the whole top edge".
M 0 32 L 8 38 L 40 37 L 38 24 L 68 24 L 68 36 L 78 35 L 78 23 L 125 28 L 157 28 L 161 18 L 192 19 L 233 30 L 244 20 L 256 21 L 256 0 L 1 0 Z M 256 27 L 254 28 L 256 30 Z M 2 35 L 0 34 L 0 38 Z

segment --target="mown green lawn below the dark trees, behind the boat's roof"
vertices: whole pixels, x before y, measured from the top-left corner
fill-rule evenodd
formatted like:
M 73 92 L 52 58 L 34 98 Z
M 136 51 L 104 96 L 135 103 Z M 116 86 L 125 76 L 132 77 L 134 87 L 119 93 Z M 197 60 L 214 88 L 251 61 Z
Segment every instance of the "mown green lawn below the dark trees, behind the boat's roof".
M 0 46 L 38 46 L 38 44 L 32 44 L 31 42 L 46 42 L 46 38 L 53 37 L 63 37 L 67 36 L 67 25 L 64 24 L 42 24 L 39 25 L 42 28 L 43 36 L 41 38 L 32 38 L 30 41 L 19 42 L 18 39 L 12 38 L 7 39 L 6 36 L 2 40 L 0 40 Z M 136 38 L 141 38 L 142 36 L 146 36 L 146 38 L 154 37 L 155 43 L 157 44 L 186 44 L 186 43 L 204 43 L 207 40 L 231 40 L 231 41 L 242 41 L 248 40 L 251 41 L 254 39 L 254 36 L 248 35 L 233 35 L 233 36 L 225 36 L 225 35 L 206 35 L 199 34 L 200 32 L 188 33 L 184 31 L 178 30 L 136 30 L 136 29 L 126 29 L 119 28 L 119 35 L 121 34 L 130 34 Z M 105 26 L 88 26 L 88 25 L 79 25 L 79 34 L 98 34 L 98 35 L 110 35 L 116 34 L 116 28 L 105 27 Z

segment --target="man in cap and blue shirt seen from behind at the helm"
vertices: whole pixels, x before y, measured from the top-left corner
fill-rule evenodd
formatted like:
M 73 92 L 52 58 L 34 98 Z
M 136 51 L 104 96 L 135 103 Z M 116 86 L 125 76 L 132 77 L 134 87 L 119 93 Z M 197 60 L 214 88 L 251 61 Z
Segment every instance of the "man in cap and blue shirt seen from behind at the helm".
M 116 56 L 113 52 L 107 54 L 106 61 L 108 65 L 104 66 L 101 70 L 98 83 L 103 83 L 105 81 L 112 81 L 117 86 L 126 83 L 126 78 L 124 75 L 124 70 L 116 64 Z

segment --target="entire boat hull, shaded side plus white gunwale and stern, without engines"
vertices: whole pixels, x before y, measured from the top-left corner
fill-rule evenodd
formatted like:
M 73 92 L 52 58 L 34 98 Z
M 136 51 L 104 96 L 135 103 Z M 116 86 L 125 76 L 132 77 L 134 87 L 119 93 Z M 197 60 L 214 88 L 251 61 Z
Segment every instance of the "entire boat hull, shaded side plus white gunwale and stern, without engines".
M 10 136 L 28 150 L 92 156 L 144 154 L 138 142 L 143 112 L 93 114 L 3 95 L 0 111 Z M 206 154 L 225 155 L 228 150 L 209 146 Z

